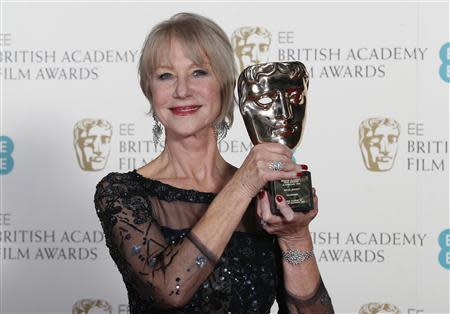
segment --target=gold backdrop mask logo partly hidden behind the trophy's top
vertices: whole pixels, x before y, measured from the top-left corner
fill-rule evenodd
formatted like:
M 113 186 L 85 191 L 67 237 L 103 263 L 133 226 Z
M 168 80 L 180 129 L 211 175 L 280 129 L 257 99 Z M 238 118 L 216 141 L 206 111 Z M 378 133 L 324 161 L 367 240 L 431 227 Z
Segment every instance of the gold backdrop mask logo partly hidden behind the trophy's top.
M 264 27 L 245 26 L 236 29 L 231 35 L 231 44 L 244 70 L 250 65 L 267 62 L 272 35 Z

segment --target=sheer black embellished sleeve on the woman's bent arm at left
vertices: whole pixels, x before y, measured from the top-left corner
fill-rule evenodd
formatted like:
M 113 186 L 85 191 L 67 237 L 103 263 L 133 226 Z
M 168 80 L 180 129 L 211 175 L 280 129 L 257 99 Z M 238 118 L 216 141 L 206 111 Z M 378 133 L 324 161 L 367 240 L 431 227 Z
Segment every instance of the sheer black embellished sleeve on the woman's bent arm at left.
M 214 268 L 216 258 L 193 233 L 168 243 L 155 221 L 148 195 L 124 174 L 97 185 L 95 207 L 106 245 L 124 281 L 161 308 L 186 304 Z

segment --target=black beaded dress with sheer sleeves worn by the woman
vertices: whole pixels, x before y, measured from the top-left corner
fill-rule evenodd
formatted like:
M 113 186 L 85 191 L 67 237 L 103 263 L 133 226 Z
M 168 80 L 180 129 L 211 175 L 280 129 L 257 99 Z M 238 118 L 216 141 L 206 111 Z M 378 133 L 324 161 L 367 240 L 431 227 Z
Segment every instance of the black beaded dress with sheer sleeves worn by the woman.
M 333 313 L 322 281 L 309 300 L 286 294 L 276 238 L 262 230 L 238 227 L 213 256 L 190 229 L 214 197 L 136 171 L 99 182 L 95 207 L 130 313 L 269 313 L 275 299 L 279 313 Z

